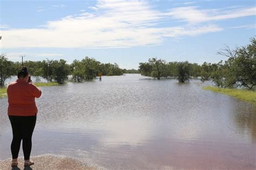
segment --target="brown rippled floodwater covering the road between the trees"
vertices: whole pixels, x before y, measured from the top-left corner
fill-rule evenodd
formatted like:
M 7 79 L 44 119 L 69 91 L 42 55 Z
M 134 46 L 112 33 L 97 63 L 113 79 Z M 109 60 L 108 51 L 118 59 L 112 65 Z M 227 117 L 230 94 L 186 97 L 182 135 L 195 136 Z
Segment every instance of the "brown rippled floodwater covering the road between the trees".
M 255 169 L 256 107 L 207 84 L 126 74 L 42 87 L 31 155 L 109 169 Z M 11 158 L 7 107 L 2 98 L 0 159 Z

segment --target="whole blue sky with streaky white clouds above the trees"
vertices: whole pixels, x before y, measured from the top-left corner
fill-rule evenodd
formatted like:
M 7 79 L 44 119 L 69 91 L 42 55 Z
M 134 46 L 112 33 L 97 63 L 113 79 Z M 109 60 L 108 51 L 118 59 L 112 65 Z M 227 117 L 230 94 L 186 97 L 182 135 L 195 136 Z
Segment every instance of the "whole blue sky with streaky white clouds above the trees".
M 256 1 L 0 0 L 1 54 L 11 61 L 85 56 L 121 68 L 157 57 L 202 64 L 256 35 Z

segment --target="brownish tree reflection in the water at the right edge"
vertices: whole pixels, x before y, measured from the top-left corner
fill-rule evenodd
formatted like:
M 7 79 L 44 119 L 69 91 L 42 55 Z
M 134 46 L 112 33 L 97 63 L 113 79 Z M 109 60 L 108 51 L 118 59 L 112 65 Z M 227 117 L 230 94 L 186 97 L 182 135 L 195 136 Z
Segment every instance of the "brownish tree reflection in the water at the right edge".
M 239 132 L 251 133 L 252 143 L 256 143 L 256 107 L 249 103 L 239 103 L 234 110 L 234 121 Z

